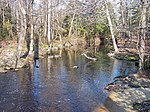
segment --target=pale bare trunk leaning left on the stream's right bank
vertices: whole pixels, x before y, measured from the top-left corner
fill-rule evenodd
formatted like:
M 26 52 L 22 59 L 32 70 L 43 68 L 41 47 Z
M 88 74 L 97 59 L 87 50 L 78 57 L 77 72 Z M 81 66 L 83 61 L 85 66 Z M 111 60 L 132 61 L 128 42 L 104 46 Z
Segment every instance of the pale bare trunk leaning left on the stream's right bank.
M 113 41 L 113 46 L 114 46 L 115 52 L 118 52 L 118 47 L 117 47 L 116 39 L 114 36 L 113 26 L 112 26 L 112 21 L 110 18 L 110 14 L 109 14 L 109 10 L 108 10 L 108 6 L 107 6 L 106 1 L 105 1 L 105 7 L 106 7 L 106 16 L 107 16 L 107 20 L 109 23 L 109 28 L 110 28 L 110 32 L 111 32 L 112 41 Z

